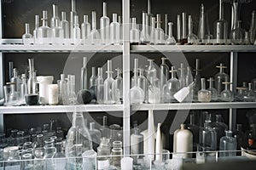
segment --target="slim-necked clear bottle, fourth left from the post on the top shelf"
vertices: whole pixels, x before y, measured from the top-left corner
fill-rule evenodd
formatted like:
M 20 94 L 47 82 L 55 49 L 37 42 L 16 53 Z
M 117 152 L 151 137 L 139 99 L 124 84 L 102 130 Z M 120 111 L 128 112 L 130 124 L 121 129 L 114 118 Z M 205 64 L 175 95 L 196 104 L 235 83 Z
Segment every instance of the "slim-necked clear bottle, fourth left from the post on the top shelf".
M 90 31 L 90 42 L 95 45 L 100 41 L 100 33 L 96 30 L 96 11 L 91 12 L 91 31 Z

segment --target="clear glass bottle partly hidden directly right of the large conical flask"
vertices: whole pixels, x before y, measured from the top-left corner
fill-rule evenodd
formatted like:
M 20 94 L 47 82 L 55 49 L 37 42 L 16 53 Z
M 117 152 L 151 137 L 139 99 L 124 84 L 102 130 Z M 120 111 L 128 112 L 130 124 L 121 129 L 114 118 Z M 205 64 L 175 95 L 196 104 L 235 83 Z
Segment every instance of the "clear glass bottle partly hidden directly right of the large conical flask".
M 95 128 L 95 122 L 90 122 L 89 133 L 92 140 L 92 148 L 96 151 L 101 143 L 102 133 Z

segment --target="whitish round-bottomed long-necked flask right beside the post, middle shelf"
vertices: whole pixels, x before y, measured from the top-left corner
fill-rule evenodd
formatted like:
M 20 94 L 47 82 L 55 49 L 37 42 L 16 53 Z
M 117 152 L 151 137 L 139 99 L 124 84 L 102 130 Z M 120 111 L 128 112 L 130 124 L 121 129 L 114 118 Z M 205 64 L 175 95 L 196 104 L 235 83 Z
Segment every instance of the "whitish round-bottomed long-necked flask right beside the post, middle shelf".
M 134 59 L 134 86 L 130 89 L 131 104 L 143 104 L 145 99 L 143 88 L 138 84 L 137 67 L 138 59 Z

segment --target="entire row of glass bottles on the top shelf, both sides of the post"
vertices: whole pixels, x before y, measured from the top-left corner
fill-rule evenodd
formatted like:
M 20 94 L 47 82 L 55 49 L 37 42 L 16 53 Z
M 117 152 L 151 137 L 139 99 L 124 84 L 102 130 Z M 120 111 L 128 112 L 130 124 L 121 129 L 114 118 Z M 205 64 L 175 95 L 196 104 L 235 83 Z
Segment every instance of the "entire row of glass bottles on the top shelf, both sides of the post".
M 224 0 L 219 0 L 219 18 L 214 22 L 213 36 L 209 29 L 204 5 L 201 4 L 199 26 L 197 36 L 193 32 L 192 16 L 186 13 L 177 14 L 177 37 L 173 37 L 173 22 L 168 22 L 166 14 L 165 31 L 161 28 L 160 14 L 150 14 L 150 1 L 148 1 L 148 13 L 143 13 L 143 23 L 140 30 L 136 18 L 130 21 L 131 44 L 254 44 L 255 43 L 255 12 L 252 12 L 251 25 L 248 31 L 241 28 L 239 20 L 239 1 L 233 1 L 230 38 L 228 37 L 228 22 L 224 20 Z M 188 18 L 188 20 L 187 20 Z M 113 22 L 109 24 L 107 16 L 107 3 L 103 3 L 103 15 L 100 19 L 100 31 L 96 30 L 96 11 L 92 11 L 91 28 L 88 15 L 84 15 L 84 22 L 79 27 L 79 15 L 75 9 L 75 1 L 72 0 L 70 21 L 66 20 L 66 12 L 61 12 L 61 20 L 58 16 L 58 8 L 53 4 L 53 17 L 48 26 L 47 11 L 43 11 L 43 24 L 39 27 L 39 16 L 35 16 L 35 29 L 33 36 L 30 34 L 29 24 L 26 24 L 26 33 L 22 36 L 24 44 L 120 44 L 122 42 L 121 17 L 117 20 L 117 14 L 113 14 Z M 156 27 L 155 27 L 156 23 Z M 168 27 L 168 28 L 167 28 Z

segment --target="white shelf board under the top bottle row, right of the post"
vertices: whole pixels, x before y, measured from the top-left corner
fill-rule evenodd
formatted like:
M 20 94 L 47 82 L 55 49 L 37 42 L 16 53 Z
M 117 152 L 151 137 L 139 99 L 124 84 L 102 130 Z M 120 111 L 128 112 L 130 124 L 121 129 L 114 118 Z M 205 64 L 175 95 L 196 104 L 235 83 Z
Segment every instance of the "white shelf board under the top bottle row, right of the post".
M 256 45 L 132 45 L 131 52 L 256 52 Z

